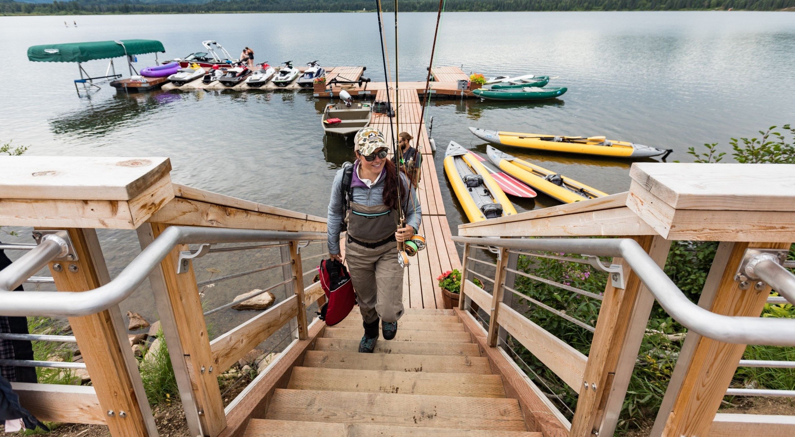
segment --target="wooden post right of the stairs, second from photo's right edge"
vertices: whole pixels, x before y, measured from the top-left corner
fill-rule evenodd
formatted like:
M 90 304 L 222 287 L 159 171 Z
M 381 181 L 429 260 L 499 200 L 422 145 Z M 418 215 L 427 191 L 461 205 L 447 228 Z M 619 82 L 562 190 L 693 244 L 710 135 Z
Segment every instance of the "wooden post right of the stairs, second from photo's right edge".
M 646 252 L 650 251 L 653 242 L 651 235 L 631 238 Z M 642 286 L 640 278 L 630 270 L 626 261 L 614 258 L 613 262 L 624 268 L 625 288 L 614 288 L 610 281 L 605 287 L 583 385 L 577 387 L 580 396 L 572 420 L 572 437 L 588 437 L 592 431 L 599 431 L 597 420 L 603 416 L 603 410 L 607 406 L 607 396 L 611 393 L 615 378 L 615 367 L 619 362 L 622 343 Z

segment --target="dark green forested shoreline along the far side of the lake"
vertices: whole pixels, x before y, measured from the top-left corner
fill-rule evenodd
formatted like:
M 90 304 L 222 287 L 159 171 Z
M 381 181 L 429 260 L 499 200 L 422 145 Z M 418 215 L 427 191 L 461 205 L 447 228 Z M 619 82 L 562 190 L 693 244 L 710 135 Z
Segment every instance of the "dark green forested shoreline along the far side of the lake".
M 35 0 L 33 0 L 35 1 Z M 393 2 L 383 2 L 391 10 Z M 373 10 L 357 0 L 145 0 L 52 3 L 0 0 L 0 14 L 196 14 L 214 12 L 345 12 Z M 401 11 L 435 11 L 437 0 L 401 0 Z M 795 0 L 448 0 L 447 11 L 572 10 L 782 10 Z

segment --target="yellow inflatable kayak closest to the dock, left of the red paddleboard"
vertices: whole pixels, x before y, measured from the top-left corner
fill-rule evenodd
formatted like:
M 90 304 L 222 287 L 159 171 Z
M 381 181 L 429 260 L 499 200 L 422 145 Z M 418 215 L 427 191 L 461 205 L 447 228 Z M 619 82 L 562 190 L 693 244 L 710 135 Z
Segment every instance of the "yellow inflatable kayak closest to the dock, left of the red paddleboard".
M 444 173 L 470 222 L 516 214 L 514 205 L 497 181 L 456 141 L 450 141 L 444 153 Z

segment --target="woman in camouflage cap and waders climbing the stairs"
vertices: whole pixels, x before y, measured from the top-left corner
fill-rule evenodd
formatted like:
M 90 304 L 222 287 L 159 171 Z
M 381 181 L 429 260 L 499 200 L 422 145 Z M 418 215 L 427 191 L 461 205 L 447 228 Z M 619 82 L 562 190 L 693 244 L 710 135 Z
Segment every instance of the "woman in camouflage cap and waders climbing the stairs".
M 332 184 L 328 253 L 332 259 L 343 261 L 339 234 L 344 224 L 345 260 L 364 327 L 359 352 L 371 353 L 378 340 L 379 318 L 384 339 L 391 340 L 397 334 L 397 319 L 403 315 L 403 268 L 397 261 L 396 242 L 405 242 L 417 232 L 421 208 L 409 201 L 416 197 L 415 188 L 389 159 L 390 150 L 381 131 L 363 128 L 354 141 L 356 160 L 343 164 Z M 349 188 L 344 186 L 346 182 Z M 405 214 L 402 227 L 399 211 Z

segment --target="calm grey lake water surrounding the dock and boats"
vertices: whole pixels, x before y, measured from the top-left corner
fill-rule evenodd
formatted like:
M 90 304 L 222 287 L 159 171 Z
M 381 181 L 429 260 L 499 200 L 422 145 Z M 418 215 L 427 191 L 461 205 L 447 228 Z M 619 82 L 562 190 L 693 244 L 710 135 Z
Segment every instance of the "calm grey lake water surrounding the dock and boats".
M 436 14 L 400 14 L 401 80 L 425 80 Z M 64 27 L 76 20 L 79 27 Z M 394 36 L 394 19 L 386 15 Z M 77 17 L 0 17 L 5 56 L 0 68 L 0 141 L 29 145 L 29 155 L 170 157 L 173 180 L 261 203 L 326 215 L 329 184 L 351 149 L 324 147 L 320 111 L 326 101 L 310 92 L 157 92 L 117 95 L 103 86 L 78 98 L 75 64 L 32 63 L 33 44 L 145 38 L 163 42 L 161 60 L 202 51 L 215 39 L 233 56 L 243 46 L 256 60 L 301 65 L 365 65 L 383 80 L 374 14 L 204 14 Z M 393 44 L 394 45 L 394 44 Z M 390 47 L 394 54 L 394 47 Z M 138 56 L 138 68 L 153 64 Z M 118 60 L 117 71 L 126 72 Z M 454 140 L 479 153 L 482 141 L 468 126 L 564 135 L 606 135 L 674 149 L 669 160 L 691 161 L 688 147 L 749 137 L 767 126 L 795 122 L 795 14 L 781 12 L 567 12 L 448 13 L 440 25 L 435 64 L 464 72 L 546 74 L 566 86 L 562 99 L 540 103 L 436 100 L 432 136 L 439 150 Z M 106 64 L 84 64 L 103 75 Z M 394 66 L 394 62 L 393 62 Z M 393 67 L 394 68 L 394 67 Z M 549 153 L 522 153 L 608 193 L 625 191 L 630 161 Z M 463 217 L 445 191 L 454 230 Z M 518 210 L 548 207 L 539 196 Z M 25 231 L 25 230 L 22 230 Z M 100 231 L 118 273 L 139 249 L 134 232 Z M 4 242 L 29 241 L 8 238 Z M 10 253 L 18 257 L 18 253 Z M 254 268 L 262 257 L 237 253 L 200 261 L 223 274 Z M 316 258 L 319 259 L 319 258 Z M 208 305 L 273 284 L 281 273 L 259 273 L 207 291 Z M 216 275 L 217 276 L 217 275 Z M 142 288 L 122 304 L 149 319 L 151 295 Z M 221 329 L 250 317 L 222 311 Z

